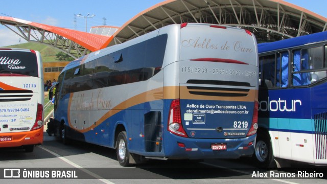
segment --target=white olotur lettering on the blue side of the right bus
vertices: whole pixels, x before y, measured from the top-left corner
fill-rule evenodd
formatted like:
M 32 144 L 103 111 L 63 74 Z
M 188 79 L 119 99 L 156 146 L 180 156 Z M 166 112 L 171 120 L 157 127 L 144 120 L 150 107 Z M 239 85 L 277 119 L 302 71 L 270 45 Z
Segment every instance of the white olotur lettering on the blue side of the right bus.
M 268 97 L 267 101 L 260 101 L 259 110 L 261 111 L 288 111 L 288 112 L 295 112 L 296 107 L 302 105 L 301 100 L 270 100 Z

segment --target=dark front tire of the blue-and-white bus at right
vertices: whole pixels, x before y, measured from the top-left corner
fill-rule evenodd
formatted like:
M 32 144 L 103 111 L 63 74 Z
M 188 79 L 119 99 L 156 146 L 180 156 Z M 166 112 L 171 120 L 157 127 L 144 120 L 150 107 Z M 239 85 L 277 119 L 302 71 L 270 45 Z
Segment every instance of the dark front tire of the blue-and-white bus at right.
M 253 154 L 254 162 L 258 167 L 275 168 L 274 156 L 270 137 L 267 133 L 256 135 L 256 143 Z

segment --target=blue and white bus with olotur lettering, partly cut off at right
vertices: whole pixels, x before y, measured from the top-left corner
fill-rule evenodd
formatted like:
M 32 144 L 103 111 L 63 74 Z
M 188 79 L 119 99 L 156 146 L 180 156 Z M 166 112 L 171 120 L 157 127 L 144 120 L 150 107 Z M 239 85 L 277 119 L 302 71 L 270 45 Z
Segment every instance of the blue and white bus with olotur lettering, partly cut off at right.
M 258 45 L 261 166 L 273 166 L 274 158 L 327 164 L 326 44 L 321 32 Z

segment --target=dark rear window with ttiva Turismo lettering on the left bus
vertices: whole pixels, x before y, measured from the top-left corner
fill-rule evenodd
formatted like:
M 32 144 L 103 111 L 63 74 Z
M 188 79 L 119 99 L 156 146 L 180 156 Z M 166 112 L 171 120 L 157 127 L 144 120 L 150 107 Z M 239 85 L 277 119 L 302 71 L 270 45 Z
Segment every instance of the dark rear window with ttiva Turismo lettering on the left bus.
M 0 51 L 0 74 L 20 74 L 38 77 L 35 53 Z

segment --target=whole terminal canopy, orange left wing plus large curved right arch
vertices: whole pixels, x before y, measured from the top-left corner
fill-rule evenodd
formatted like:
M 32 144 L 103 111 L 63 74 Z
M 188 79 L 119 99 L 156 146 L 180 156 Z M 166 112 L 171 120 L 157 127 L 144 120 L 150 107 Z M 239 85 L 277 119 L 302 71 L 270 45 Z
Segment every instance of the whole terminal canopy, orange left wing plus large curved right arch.
M 111 37 L 0 16 L 0 23 L 22 38 L 50 44 L 75 58 L 182 22 L 248 29 L 258 42 L 327 30 L 327 18 L 282 0 L 167 0 L 135 15 Z

